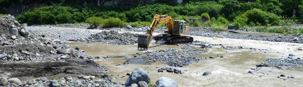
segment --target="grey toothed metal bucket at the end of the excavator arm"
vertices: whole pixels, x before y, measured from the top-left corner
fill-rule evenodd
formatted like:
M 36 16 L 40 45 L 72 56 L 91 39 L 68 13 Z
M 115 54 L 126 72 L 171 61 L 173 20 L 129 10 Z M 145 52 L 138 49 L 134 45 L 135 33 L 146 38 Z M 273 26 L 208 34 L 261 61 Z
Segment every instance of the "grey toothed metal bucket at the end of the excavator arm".
M 139 48 L 142 50 L 148 49 L 149 43 L 152 41 L 152 36 L 148 34 L 139 34 L 138 38 L 138 50 Z

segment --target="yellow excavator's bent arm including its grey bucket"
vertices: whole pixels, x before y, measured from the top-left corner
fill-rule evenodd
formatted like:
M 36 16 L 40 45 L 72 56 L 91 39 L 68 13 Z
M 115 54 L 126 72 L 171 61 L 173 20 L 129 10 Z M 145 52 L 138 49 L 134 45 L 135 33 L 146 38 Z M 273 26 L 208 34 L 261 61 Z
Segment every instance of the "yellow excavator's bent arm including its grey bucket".
M 148 49 L 149 43 L 152 41 L 152 34 L 154 33 L 158 24 L 167 23 L 166 29 L 169 31 L 173 30 L 173 18 L 169 15 L 158 15 L 154 16 L 151 25 L 149 26 L 149 30 L 145 34 L 139 34 L 138 38 L 138 49 L 143 48 L 143 50 Z

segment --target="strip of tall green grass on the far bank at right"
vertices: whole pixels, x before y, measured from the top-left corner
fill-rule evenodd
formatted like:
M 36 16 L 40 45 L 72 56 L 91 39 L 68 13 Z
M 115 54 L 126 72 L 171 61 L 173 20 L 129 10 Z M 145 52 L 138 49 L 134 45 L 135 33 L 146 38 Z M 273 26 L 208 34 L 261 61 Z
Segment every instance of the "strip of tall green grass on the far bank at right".
M 263 32 L 263 33 L 281 33 L 281 34 L 297 34 L 303 33 L 303 28 L 288 29 L 287 26 L 274 26 L 274 27 L 256 27 L 256 28 L 246 28 L 242 31 L 247 32 Z

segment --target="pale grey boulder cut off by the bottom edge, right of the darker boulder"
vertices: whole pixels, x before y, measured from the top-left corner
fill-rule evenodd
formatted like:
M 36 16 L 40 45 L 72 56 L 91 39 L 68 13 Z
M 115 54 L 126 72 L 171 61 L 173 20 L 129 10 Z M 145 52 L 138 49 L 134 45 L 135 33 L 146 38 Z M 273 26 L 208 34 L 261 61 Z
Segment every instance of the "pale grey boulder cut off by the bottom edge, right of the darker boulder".
M 162 76 L 160 80 L 156 81 L 156 87 L 178 87 L 175 80 Z

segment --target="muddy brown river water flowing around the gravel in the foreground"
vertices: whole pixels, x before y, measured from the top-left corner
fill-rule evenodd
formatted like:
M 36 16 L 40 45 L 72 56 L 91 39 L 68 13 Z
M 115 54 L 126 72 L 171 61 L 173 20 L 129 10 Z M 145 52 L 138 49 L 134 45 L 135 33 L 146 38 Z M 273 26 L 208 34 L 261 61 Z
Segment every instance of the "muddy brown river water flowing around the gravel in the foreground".
M 203 59 L 200 62 L 193 62 L 189 66 L 180 67 L 185 74 L 175 74 L 169 72 L 157 72 L 159 68 L 169 67 L 165 63 L 142 60 L 147 63 L 132 63 L 119 65 L 127 60 L 135 59 L 136 52 L 143 54 L 145 51 L 137 50 L 137 45 L 111 45 L 103 43 L 69 42 L 72 48 L 80 47 L 87 55 L 110 56 L 113 59 L 99 59 L 97 63 L 106 66 L 110 72 L 108 74 L 117 81 L 125 82 L 134 68 L 141 67 L 149 72 L 152 83 L 155 83 L 161 76 L 174 79 L 178 87 L 302 87 L 303 72 L 287 69 L 277 69 L 272 67 L 262 67 L 253 74 L 247 74 L 251 68 L 256 68 L 256 64 L 264 62 L 268 58 L 279 58 L 275 52 L 264 53 L 259 50 L 226 50 L 219 46 L 207 48 L 206 53 L 196 55 L 197 57 L 215 56 L 215 59 Z M 168 48 L 179 48 L 176 45 L 150 45 L 149 51 L 163 50 Z M 198 48 L 197 48 L 198 49 Z M 217 57 L 217 54 L 224 58 Z M 125 57 L 127 59 L 125 59 Z M 202 76 L 203 72 L 211 72 L 208 76 Z M 281 74 L 294 76 L 294 79 L 283 80 L 277 78 Z M 122 77 L 125 76 L 125 77 Z

